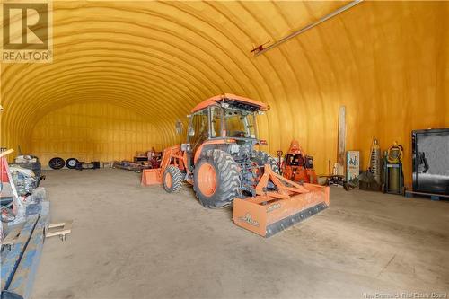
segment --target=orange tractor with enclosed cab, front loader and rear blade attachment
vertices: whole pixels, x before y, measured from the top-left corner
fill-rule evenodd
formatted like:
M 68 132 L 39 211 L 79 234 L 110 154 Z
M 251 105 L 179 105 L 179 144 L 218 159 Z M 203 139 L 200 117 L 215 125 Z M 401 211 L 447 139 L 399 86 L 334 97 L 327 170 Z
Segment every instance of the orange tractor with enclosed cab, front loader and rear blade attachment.
M 193 185 L 204 207 L 233 204 L 233 221 L 268 237 L 329 206 L 329 188 L 279 175 L 277 162 L 255 149 L 256 117 L 269 107 L 233 94 L 199 103 L 189 115 L 187 142 L 163 151 L 161 167 L 144 170 L 142 184 L 179 192 Z

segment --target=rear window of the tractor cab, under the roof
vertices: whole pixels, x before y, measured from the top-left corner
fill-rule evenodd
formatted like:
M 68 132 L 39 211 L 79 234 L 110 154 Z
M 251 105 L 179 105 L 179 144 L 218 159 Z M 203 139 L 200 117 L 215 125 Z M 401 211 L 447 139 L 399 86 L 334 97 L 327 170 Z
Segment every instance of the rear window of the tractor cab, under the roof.
M 225 132 L 227 137 L 256 138 L 256 116 L 254 112 L 225 109 Z

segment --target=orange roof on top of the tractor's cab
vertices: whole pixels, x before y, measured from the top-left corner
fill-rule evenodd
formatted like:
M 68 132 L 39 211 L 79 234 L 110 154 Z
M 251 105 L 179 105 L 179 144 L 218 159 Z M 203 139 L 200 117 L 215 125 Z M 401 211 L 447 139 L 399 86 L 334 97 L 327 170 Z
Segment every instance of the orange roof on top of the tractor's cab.
M 236 107 L 242 110 L 250 110 L 250 111 L 269 110 L 269 106 L 261 101 L 254 101 L 248 98 L 243 98 L 235 94 L 224 93 L 209 98 L 206 101 L 200 102 L 197 106 L 195 106 L 195 108 L 192 109 L 192 113 L 195 113 L 198 110 L 205 109 L 206 107 L 216 105 L 217 102 L 221 101 L 228 103 L 231 107 Z

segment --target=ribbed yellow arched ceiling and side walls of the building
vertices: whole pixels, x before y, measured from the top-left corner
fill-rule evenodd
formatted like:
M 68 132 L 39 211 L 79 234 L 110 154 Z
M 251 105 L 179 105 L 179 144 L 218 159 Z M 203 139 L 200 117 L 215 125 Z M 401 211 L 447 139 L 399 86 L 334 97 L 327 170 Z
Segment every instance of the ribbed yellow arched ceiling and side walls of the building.
M 449 3 L 365 1 L 251 55 L 343 4 L 55 2 L 54 62 L 2 65 L 2 145 L 31 150 L 34 124 L 77 101 L 136 110 L 171 145 L 177 119 L 232 92 L 271 106 L 260 119 L 271 154 L 297 138 L 319 173 L 336 160 L 345 105 L 347 148 L 366 164 L 374 136 L 383 148 L 398 140 L 409 181 L 410 131 L 449 127 Z

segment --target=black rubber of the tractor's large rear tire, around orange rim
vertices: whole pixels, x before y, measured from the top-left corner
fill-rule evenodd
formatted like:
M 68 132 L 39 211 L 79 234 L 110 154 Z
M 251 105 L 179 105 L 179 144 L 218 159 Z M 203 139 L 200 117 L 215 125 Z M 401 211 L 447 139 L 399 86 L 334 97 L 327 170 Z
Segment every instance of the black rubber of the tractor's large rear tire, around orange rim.
M 198 172 L 206 163 L 216 171 L 216 188 L 210 195 L 203 194 L 198 186 Z M 209 208 L 230 206 L 233 198 L 242 193 L 239 172 L 239 167 L 230 154 L 218 149 L 203 152 L 193 172 L 193 189 L 201 205 Z

